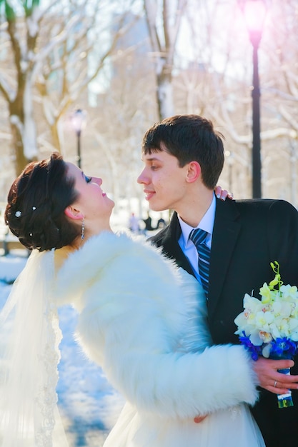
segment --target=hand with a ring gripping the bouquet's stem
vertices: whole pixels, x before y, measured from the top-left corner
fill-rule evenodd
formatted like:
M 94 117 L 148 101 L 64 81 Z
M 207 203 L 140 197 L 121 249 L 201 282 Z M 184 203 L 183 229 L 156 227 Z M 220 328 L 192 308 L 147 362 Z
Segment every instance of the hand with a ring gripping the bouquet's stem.
M 292 360 L 271 360 L 259 357 L 254 362 L 254 371 L 259 378 L 259 386 L 274 394 L 285 394 L 289 389 L 298 389 L 298 376 L 279 373 L 278 369 L 292 368 Z

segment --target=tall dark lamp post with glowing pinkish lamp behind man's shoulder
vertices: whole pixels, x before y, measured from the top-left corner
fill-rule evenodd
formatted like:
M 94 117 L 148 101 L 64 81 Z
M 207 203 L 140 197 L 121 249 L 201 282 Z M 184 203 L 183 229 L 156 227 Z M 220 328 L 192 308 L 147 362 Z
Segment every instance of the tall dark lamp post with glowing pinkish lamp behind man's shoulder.
M 252 75 L 252 197 L 262 197 L 262 163 L 261 163 L 261 136 L 259 112 L 259 59 L 258 49 L 262 39 L 262 31 L 266 16 L 264 0 L 242 0 L 242 9 L 252 43 L 253 75 Z

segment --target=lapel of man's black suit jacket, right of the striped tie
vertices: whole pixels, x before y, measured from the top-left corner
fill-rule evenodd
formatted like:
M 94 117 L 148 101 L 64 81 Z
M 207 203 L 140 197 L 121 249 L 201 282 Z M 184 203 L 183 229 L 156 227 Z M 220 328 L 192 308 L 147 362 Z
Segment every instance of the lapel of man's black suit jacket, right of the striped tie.
M 209 316 L 212 316 L 222 293 L 241 224 L 235 201 L 217 199 L 209 268 Z

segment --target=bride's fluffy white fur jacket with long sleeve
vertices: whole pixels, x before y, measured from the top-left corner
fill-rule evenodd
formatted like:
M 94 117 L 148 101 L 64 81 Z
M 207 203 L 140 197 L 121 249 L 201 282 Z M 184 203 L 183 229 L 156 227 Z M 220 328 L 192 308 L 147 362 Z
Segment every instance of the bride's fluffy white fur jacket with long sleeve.
M 101 233 L 70 254 L 56 284 L 58 304 L 79 311 L 84 351 L 139 411 L 189 418 L 256 401 L 247 352 L 204 349 L 206 309 L 204 299 L 194 306 L 202 298 L 197 281 L 149 243 Z

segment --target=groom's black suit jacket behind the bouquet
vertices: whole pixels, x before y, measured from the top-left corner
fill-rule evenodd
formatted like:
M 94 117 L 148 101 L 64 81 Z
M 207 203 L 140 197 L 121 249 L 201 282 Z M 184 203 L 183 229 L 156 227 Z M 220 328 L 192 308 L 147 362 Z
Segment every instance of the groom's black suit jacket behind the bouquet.
M 151 238 L 179 266 L 194 274 L 179 246 L 181 228 L 174 213 L 169 226 Z M 282 281 L 298 286 L 298 212 L 286 201 L 219 201 L 214 220 L 209 269 L 209 328 L 214 343 L 239 343 L 234 318 L 243 311 L 244 293 L 274 278 L 278 261 Z M 298 358 L 296 359 L 298 366 Z M 294 371 L 294 369 L 296 371 Z M 292 373 L 298 373 L 293 368 Z M 232 386 L 232 385 L 231 385 Z M 298 391 L 294 407 L 277 408 L 277 396 L 262 391 L 252 409 L 267 447 L 298 446 Z

